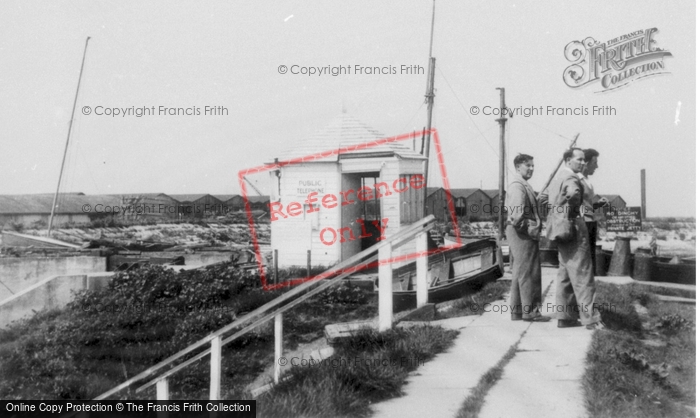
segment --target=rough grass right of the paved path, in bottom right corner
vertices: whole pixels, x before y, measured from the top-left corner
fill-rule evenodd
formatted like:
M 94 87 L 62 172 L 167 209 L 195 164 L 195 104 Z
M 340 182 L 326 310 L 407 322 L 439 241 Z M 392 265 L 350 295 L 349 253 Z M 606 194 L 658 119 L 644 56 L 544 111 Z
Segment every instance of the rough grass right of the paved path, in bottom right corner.
M 608 329 L 594 334 L 586 359 L 590 415 L 695 416 L 695 306 L 660 302 L 640 285 L 597 287 Z

